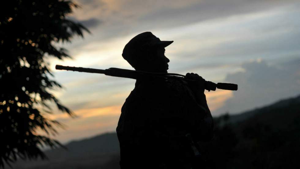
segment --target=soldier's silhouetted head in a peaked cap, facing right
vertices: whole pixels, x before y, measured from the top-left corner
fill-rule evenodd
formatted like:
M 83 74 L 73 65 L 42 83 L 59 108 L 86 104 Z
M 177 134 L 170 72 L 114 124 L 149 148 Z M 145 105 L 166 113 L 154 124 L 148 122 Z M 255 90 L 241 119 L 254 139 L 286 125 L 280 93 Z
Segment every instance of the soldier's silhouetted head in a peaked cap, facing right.
M 170 60 L 164 52 L 171 43 L 173 41 L 161 41 L 151 32 L 144 32 L 125 45 L 122 56 L 135 70 L 167 73 Z

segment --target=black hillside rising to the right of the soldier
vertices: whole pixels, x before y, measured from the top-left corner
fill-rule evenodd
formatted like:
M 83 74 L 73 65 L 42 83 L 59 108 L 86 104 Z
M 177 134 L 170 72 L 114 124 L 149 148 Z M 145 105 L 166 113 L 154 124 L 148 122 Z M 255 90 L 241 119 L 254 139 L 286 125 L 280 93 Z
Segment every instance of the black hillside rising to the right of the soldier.
M 299 168 L 300 96 L 215 121 L 208 168 Z

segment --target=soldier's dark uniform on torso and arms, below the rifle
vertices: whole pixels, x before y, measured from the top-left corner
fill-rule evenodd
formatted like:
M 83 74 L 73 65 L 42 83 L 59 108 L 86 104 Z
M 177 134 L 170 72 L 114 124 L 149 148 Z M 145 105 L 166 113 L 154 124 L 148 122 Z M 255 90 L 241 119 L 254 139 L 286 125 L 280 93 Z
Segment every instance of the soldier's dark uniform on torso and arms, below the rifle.
M 213 123 L 181 79 L 137 79 L 122 107 L 117 134 L 121 168 L 192 168 L 194 141 L 210 140 Z

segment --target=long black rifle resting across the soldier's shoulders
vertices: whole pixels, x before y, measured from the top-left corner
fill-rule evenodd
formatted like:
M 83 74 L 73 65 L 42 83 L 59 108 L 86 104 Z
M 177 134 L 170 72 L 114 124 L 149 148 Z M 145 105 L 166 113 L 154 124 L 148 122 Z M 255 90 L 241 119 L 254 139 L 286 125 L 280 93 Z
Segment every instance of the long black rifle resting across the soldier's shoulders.
M 108 68 L 108 69 L 92 69 L 92 68 L 84 68 L 84 67 L 69 67 L 56 65 L 55 69 L 57 70 L 67 70 L 67 71 L 79 71 L 79 72 L 88 72 L 88 73 L 100 73 L 108 76 L 122 77 L 122 78 L 130 78 L 130 79 L 138 79 L 144 76 L 155 76 L 155 77 L 163 77 L 163 78 L 180 78 L 185 81 L 196 81 L 191 79 L 186 79 L 185 75 L 180 75 L 176 73 L 155 73 L 155 72 L 146 72 L 146 71 L 135 71 L 128 69 L 120 69 L 120 68 Z M 213 90 L 216 88 L 223 90 L 238 90 L 237 84 L 232 83 L 213 83 L 210 81 L 205 81 L 205 90 Z

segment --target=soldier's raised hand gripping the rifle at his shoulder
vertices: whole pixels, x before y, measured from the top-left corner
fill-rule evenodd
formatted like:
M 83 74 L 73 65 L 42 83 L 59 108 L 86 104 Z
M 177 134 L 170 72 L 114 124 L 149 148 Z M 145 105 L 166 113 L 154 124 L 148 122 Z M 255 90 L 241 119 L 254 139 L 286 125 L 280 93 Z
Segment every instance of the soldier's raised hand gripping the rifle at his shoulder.
M 198 74 L 187 73 L 186 79 L 191 79 L 195 81 L 188 81 L 189 87 L 196 93 L 201 92 L 204 93 L 205 88 L 205 79 L 203 79 Z

